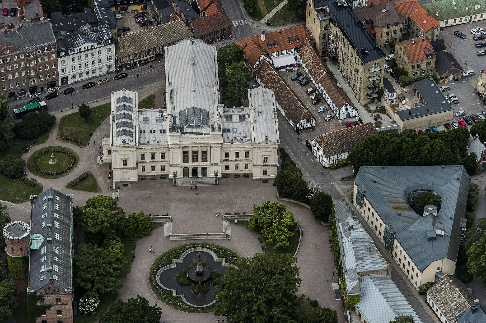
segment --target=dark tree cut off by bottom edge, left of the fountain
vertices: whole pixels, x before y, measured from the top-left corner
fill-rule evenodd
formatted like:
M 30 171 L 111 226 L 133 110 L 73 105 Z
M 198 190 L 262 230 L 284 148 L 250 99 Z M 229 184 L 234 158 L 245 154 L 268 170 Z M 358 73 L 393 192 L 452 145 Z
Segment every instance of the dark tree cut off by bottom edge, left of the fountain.
M 157 303 L 150 306 L 145 297 L 137 295 L 137 298 L 129 298 L 126 302 L 119 299 L 113 303 L 100 323 L 158 323 L 162 317 L 161 310 Z

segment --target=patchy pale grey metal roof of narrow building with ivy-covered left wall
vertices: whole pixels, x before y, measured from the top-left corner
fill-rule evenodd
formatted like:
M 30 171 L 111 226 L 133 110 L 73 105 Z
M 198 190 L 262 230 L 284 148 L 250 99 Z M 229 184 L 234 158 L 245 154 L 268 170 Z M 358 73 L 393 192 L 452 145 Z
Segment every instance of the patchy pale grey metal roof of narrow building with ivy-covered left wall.
M 348 295 L 360 293 L 360 273 L 387 270 L 388 265 L 346 201 L 332 200 Z

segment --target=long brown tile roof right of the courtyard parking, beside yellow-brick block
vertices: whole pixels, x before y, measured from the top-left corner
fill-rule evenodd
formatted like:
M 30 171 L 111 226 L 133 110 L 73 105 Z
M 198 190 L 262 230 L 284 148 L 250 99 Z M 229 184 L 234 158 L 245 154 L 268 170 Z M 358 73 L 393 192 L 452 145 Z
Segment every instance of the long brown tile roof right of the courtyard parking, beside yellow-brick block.
M 349 103 L 346 95 L 337 87 L 334 78 L 326 72 L 324 64 L 322 64 L 319 55 L 317 55 L 315 48 L 309 41 L 304 42 L 304 45 L 302 45 L 297 54 L 309 69 L 309 74 L 312 75 L 314 80 L 321 83 L 338 109 L 341 109 L 346 103 Z

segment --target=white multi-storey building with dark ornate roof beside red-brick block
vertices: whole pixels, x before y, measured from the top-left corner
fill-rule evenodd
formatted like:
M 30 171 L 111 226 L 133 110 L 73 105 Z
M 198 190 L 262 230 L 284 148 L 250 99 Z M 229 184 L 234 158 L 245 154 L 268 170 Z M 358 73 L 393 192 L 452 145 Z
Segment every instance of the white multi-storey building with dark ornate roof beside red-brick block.
M 98 78 L 115 69 L 115 40 L 108 25 L 80 26 L 57 40 L 59 84 Z

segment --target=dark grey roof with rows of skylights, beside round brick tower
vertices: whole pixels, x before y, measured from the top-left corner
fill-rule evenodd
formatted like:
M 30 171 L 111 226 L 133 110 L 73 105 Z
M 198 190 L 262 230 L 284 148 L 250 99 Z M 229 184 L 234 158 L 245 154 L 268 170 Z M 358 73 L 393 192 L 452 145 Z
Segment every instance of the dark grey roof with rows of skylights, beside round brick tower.
M 28 291 L 38 291 L 47 284 L 72 291 L 71 207 L 69 196 L 53 188 L 35 199 L 31 211 L 31 232 L 40 234 L 44 239 L 38 249 L 31 245 Z

